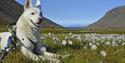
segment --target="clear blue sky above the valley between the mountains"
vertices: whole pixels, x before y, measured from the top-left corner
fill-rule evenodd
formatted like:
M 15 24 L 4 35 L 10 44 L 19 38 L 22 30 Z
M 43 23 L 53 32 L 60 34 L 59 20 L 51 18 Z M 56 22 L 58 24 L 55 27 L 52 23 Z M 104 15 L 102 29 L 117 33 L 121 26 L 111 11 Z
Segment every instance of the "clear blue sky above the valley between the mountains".
M 17 0 L 24 4 L 25 0 Z M 35 0 L 33 0 L 33 3 Z M 42 0 L 43 15 L 65 27 L 80 27 L 99 20 L 125 0 Z

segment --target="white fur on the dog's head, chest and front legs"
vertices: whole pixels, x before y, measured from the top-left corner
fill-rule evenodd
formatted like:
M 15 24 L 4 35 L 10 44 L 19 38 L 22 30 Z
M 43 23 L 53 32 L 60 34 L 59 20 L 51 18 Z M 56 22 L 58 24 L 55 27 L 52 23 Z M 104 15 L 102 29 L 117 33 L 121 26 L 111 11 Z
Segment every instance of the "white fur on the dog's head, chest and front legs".
M 25 11 L 22 14 L 22 16 L 19 18 L 17 25 L 16 25 L 17 37 L 23 43 L 23 45 L 21 46 L 22 53 L 25 56 L 31 58 L 32 60 L 42 59 L 42 60 L 49 60 L 49 61 L 54 61 L 56 63 L 59 63 L 60 60 L 58 60 L 57 58 L 60 55 L 45 52 L 45 51 L 42 51 L 41 49 L 42 47 L 39 43 L 40 42 L 39 29 L 33 24 L 33 23 L 36 24 L 39 21 L 39 18 L 41 18 L 40 1 L 37 1 L 36 4 L 37 4 L 36 7 L 33 7 L 31 0 L 26 1 L 26 4 L 24 6 Z M 32 15 L 32 13 L 34 13 L 34 15 Z M 33 21 L 33 23 L 31 21 Z M 32 50 L 34 49 L 34 45 L 29 41 L 27 37 L 32 39 L 33 42 L 37 44 L 37 47 L 40 49 L 40 51 L 38 52 L 41 53 L 42 55 L 36 55 L 32 52 Z

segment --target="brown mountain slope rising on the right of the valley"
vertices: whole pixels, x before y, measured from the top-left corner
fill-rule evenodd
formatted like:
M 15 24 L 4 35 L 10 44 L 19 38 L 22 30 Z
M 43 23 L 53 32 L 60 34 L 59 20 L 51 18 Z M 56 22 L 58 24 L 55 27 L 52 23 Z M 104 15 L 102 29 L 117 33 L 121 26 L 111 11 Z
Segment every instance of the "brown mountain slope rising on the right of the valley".
M 108 11 L 97 22 L 87 26 L 89 30 L 125 30 L 125 6 Z

